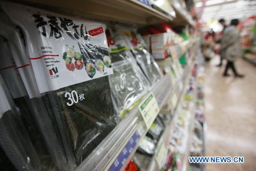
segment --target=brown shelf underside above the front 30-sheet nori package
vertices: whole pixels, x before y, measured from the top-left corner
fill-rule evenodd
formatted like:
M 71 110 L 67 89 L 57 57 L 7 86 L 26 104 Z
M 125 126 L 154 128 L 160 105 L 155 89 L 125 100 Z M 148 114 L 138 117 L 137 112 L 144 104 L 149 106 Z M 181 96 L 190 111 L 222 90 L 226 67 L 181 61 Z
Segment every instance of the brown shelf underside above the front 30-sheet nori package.
M 137 0 L 14 0 L 37 8 L 82 18 L 149 25 L 170 22 L 167 16 Z

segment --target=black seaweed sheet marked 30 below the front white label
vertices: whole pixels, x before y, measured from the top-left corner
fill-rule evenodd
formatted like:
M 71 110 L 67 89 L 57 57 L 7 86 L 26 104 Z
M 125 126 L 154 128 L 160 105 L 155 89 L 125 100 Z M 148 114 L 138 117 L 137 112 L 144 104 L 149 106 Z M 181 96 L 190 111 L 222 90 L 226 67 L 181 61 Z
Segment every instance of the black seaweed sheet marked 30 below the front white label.
M 75 90 L 84 99 L 68 106 L 66 92 Z M 59 116 L 67 126 L 73 154 L 79 165 L 115 127 L 108 77 L 70 85 L 56 91 Z M 53 99 L 52 99 L 53 100 Z M 56 114 L 55 114 L 56 115 Z

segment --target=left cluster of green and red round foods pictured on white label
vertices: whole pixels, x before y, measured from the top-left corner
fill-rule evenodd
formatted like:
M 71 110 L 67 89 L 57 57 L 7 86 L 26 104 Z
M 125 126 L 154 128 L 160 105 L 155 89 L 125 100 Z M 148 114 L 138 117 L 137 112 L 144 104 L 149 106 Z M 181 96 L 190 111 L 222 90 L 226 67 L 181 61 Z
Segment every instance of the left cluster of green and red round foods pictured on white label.
M 72 48 L 65 46 L 66 51 L 63 53 L 62 58 L 66 61 L 66 68 L 69 71 L 75 71 L 75 68 L 80 70 L 84 67 L 84 62 L 82 61 L 82 55 L 79 52 L 75 51 L 75 46 Z M 75 59 L 75 65 L 72 59 Z

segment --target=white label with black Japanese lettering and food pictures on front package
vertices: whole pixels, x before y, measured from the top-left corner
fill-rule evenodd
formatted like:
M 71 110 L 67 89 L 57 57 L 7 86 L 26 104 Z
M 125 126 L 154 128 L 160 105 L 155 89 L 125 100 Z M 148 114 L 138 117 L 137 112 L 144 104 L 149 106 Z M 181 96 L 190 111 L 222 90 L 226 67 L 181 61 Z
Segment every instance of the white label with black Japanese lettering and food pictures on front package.
M 40 93 L 113 74 L 104 24 L 16 3 L 1 6 L 25 34 Z

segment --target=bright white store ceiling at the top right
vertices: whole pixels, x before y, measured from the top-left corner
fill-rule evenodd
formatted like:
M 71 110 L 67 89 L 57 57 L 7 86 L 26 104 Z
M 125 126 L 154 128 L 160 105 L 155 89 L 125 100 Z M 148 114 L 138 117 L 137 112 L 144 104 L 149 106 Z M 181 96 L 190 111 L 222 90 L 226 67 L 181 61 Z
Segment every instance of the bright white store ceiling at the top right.
M 221 18 L 230 21 L 234 18 L 243 19 L 256 14 L 256 0 L 194 0 L 194 2 L 198 14 L 203 10 L 202 22 Z

